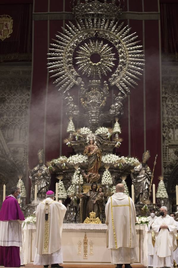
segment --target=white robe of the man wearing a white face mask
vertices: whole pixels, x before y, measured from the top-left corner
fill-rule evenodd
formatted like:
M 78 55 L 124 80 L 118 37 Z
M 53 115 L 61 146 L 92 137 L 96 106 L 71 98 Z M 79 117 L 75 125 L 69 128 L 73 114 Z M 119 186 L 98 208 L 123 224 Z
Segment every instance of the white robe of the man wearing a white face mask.
M 152 244 L 152 223 L 157 219 L 157 216 L 149 216 L 147 218 L 149 220 L 149 225 L 148 225 L 148 266 L 152 267 L 153 266 L 153 254 L 154 254 L 154 247 Z

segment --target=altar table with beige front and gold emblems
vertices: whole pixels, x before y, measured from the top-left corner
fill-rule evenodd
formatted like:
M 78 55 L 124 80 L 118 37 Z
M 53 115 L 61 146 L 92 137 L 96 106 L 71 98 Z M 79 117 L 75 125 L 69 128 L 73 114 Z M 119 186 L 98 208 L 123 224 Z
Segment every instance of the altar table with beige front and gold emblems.
M 110 250 L 106 248 L 105 224 L 63 224 L 62 253 L 65 264 L 110 264 Z M 146 224 L 136 225 L 138 247 L 136 249 L 139 264 L 148 266 Z M 87 245 L 84 247 L 86 234 Z M 33 223 L 23 227 L 24 264 L 33 264 L 36 248 L 34 247 L 36 226 Z M 56 237 L 57 240 L 57 237 Z M 81 241 L 81 248 L 79 246 Z M 92 242 L 92 248 L 90 243 Z M 87 250 L 87 256 L 84 252 Z M 93 255 L 91 254 L 93 253 Z M 80 255 L 81 254 L 81 255 Z

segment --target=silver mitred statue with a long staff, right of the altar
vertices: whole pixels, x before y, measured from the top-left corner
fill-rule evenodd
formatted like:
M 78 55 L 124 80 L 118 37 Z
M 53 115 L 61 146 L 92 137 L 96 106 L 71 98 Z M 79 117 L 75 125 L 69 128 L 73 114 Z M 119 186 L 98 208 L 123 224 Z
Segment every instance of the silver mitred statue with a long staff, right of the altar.
M 142 163 L 139 166 L 136 166 L 131 173 L 135 192 L 135 202 L 137 204 L 142 204 L 145 200 L 149 199 L 149 188 L 152 178 L 151 169 L 147 165 L 149 158 L 149 151 L 144 152 L 142 156 Z

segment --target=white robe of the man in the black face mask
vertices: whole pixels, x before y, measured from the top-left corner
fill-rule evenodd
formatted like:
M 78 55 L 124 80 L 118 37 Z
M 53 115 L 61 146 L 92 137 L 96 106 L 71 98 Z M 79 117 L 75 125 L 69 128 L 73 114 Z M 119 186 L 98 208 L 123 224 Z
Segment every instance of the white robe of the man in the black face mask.
M 168 229 L 160 229 L 160 225 L 167 225 Z M 173 251 L 177 247 L 174 219 L 169 215 L 160 216 L 153 222 L 152 230 L 155 232 L 153 267 L 173 267 Z

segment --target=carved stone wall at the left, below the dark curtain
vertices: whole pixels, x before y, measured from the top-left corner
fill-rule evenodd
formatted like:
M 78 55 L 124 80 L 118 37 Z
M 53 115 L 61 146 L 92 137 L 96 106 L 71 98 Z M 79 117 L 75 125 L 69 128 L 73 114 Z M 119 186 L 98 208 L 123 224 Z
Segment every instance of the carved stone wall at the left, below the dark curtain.
M 0 205 L 4 183 L 7 194 L 19 175 L 26 183 L 30 82 L 29 63 L 0 65 Z

